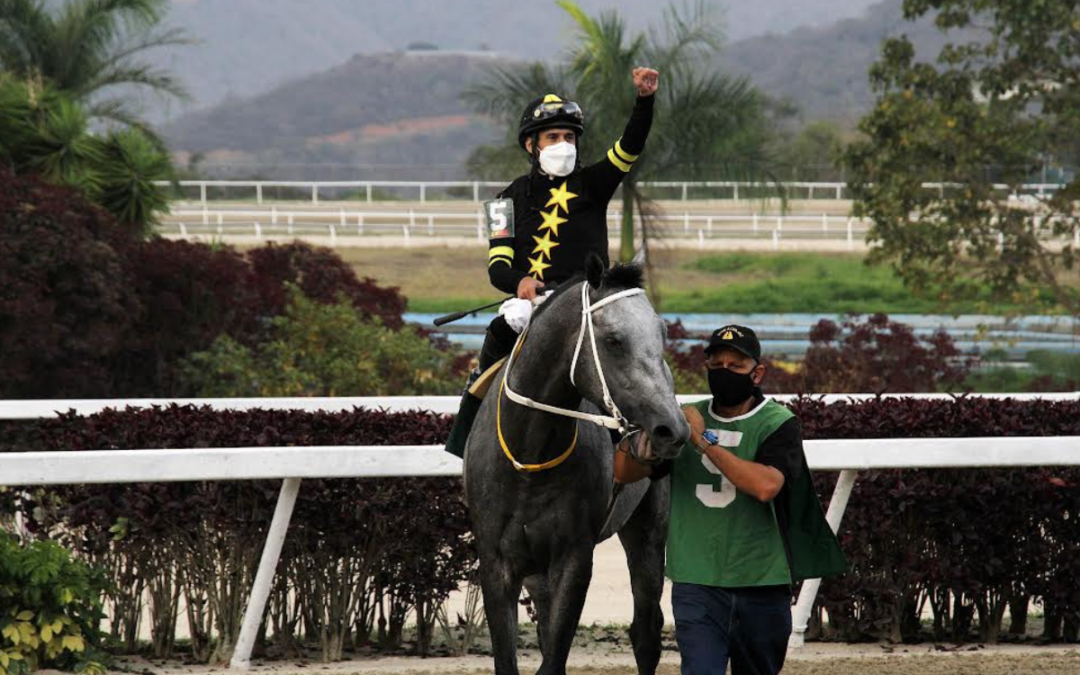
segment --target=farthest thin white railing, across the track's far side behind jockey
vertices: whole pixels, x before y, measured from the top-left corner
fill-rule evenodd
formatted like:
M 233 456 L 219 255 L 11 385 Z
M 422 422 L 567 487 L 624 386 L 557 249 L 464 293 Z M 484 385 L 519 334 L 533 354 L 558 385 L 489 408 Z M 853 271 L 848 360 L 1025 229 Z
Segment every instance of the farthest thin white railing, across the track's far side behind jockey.
M 306 195 L 310 195 L 312 204 L 318 204 L 320 192 L 327 190 L 356 191 L 357 199 L 363 194 L 363 200 L 370 203 L 375 198 L 375 190 L 408 190 L 414 192 L 416 199 L 427 202 L 429 190 L 460 190 L 464 194 L 471 194 L 472 201 L 481 200 L 481 190 L 500 190 L 507 187 L 509 180 L 179 180 L 181 188 L 199 188 L 199 202 L 207 202 L 207 188 L 230 188 L 244 189 L 247 198 L 255 198 L 256 203 L 261 204 L 265 191 L 269 189 L 302 190 Z M 160 186 L 171 186 L 168 181 L 158 181 Z M 675 190 L 678 199 L 687 201 L 690 190 L 711 190 L 719 192 L 727 199 L 757 199 L 761 194 L 777 193 L 782 190 L 788 197 L 801 195 L 805 191 L 805 199 L 845 199 L 848 189 L 847 183 L 814 183 L 814 181 L 744 181 L 744 180 L 645 180 L 638 184 L 645 189 Z M 928 190 L 937 190 L 944 194 L 948 188 L 957 187 L 954 184 L 945 183 L 923 183 L 922 187 Z M 1023 194 L 1036 194 L 1042 197 L 1048 192 L 1054 192 L 1063 186 L 1055 183 L 1031 183 L 1021 186 L 1020 192 Z M 995 190 L 1003 193 L 1013 191 L 1011 186 L 1000 184 L 994 186 Z M 254 192 L 253 192 L 254 191 Z M 460 199 L 460 198 L 459 198 Z M 714 198 L 715 199 L 715 198 Z

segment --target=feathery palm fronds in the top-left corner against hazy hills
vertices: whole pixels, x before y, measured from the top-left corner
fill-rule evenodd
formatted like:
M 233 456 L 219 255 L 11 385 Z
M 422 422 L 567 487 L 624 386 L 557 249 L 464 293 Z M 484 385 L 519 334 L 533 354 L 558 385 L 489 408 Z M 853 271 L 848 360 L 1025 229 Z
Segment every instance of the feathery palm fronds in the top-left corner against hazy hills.
M 146 127 L 118 86 L 187 98 L 168 72 L 138 59 L 190 44 L 179 29 L 157 30 L 167 0 L 0 0 L 0 71 L 67 94 L 94 119 Z

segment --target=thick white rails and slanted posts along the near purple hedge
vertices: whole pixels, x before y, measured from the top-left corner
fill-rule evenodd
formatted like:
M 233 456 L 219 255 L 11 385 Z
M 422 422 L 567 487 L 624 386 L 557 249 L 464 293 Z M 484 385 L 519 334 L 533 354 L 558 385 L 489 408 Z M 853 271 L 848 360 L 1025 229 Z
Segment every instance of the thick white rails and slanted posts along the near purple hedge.
M 680 402 L 703 396 L 679 396 Z M 834 395 L 826 401 L 863 400 L 873 396 Z M 915 397 L 948 399 L 947 394 Z M 994 395 L 1004 399 L 1080 399 L 1065 394 Z M 778 396 L 788 399 L 788 396 Z M 150 405 L 204 404 L 214 409 L 342 410 L 353 407 L 390 410 L 431 409 L 453 411 L 453 396 L 360 399 L 206 399 L 112 401 L 8 401 L 0 402 L 0 419 L 53 417 L 75 409 L 89 415 L 105 408 Z M 984 437 L 984 438 L 874 438 L 806 441 L 807 461 L 818 471 L 839 471 L 826 519 L 837 531 L 860 470 L 916 468 L 993 468 L 1080 465 L 1080 436 Z M 240 637 L 230 666 L 247 669 L 274 570 L 281 556 L 300 480 L 313 477 L 456 476 L 461 460 L 442 446 L 325 446 L 175 448 L 136 450 L 84 450 L 79 453 L 0 454 L 0 476 L 8 486 L 83 483 L 143 483 L 170 481 L 233 481 L 284 478 L 267 534 L 259 568 L 244 612 Z M 793 610 L 792 645 L 800 646 L 820 580 L 802 584 Z

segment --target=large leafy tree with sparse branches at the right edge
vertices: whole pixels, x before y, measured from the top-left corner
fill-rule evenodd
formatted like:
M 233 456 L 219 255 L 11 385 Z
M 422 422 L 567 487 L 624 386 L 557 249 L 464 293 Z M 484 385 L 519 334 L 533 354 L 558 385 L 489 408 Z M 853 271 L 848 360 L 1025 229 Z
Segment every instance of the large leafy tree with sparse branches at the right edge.
M 873 220 L 870 260 L 941 299 L 988 287 L 1080 315 L 1080 179 L 1020 197 L 1048 163 L 1077 163 L 1078 3 L 903 6 L 907 19 L 935 12 L 954 32 L 934 63 L 917 59 L 905 37 L 887 40 L 870 69 L 876 104 L 846 157 L 856 214 Z

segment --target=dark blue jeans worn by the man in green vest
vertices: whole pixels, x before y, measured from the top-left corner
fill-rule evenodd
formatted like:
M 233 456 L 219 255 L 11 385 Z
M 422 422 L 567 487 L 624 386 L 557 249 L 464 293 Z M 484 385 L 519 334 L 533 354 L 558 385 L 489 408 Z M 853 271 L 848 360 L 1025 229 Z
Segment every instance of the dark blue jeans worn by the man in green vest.
M 672 586 L 675 642 L 683 675 L 774 675 L 784 666 L 792 634 L 787 586 L 720 589 Z

